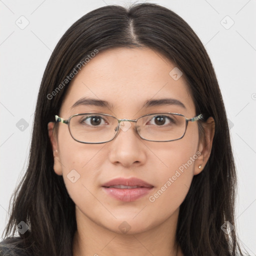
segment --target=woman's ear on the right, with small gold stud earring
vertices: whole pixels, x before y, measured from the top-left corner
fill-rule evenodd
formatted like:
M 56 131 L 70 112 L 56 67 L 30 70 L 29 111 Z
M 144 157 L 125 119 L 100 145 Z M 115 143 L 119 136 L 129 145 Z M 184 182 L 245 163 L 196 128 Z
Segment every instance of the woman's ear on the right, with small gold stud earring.
M 199 139 L 198 154 L 196 153 L 198 157 L 195 160 L 194 175 L 199 174 L 203 170 L 209 159 L 215 132 L 214 119 L 210 116 L 206 122 L 202 123 L 202 128 L 204 136 Z

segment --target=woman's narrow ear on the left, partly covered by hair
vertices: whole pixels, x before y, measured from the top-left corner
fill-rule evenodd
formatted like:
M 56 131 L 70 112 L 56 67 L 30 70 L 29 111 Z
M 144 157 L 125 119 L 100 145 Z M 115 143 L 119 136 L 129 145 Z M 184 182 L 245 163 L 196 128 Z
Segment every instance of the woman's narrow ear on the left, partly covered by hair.
M 54 129 L 54 126 L 55 126 L 54 122 L 48 123 L 48 135 L 50 138 L 50 142 L 53 150 L 53 157 L 54 157 L 53 169 L 56 174 L 62 175 L 62 167 L 60 163 L 59 149 L 58 149 L 58 143 L 57 143 L 57 134 L 56 134 L 56 130 Z

